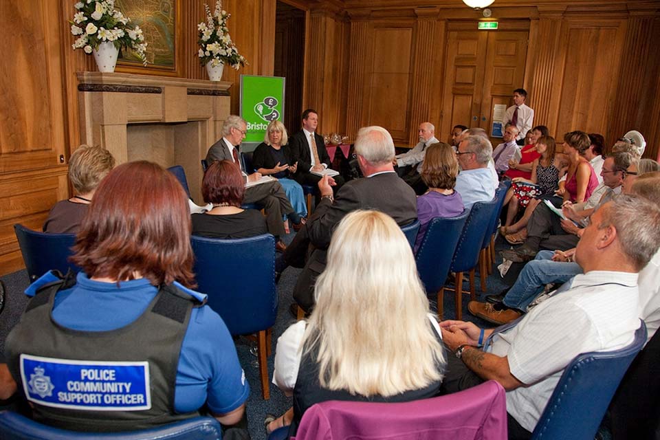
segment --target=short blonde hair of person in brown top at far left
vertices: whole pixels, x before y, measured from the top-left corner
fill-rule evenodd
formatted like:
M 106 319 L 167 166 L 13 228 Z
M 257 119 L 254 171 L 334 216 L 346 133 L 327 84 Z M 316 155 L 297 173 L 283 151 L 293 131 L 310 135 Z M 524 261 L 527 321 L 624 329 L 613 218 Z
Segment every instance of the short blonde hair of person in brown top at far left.
M 80 145 L 69 158 L 69 180 L 76 194 L 95 190 L 115 166 L 115 158 L 100 146 Z

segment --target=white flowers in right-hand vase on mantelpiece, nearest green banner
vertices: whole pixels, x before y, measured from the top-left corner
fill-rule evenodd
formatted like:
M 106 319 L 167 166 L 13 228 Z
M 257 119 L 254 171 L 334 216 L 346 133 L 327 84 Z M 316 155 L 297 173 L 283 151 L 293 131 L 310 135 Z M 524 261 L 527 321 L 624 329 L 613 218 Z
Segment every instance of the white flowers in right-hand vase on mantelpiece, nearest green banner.
M 234 69 L 248 64 L 245 57 L 239 54 L 239 50 L 234 45 L 232 37 L 229 36 L 227 21 L 232 14 L 222 9 L 222 1 L 217 0 L 215 10 L 211 14 L 208 5 L 204 3 L 206 9 L 206 22 L 197 25 L 199 30 L 199 63 L 206 65 L 211 63 L 212 67 L 217 67 L 220 63 L 228 64 Z

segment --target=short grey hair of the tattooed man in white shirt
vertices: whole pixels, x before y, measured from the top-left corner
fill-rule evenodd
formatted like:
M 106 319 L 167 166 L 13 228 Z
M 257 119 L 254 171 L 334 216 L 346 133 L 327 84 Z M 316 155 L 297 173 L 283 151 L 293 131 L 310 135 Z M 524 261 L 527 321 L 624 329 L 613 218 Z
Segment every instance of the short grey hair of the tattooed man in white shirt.
M 602 221 L 596 227 L 612 225 L 621 251 L 637 270 L 642 270 L 660 245 L 660 207 L 639 195 L 621 194 L 599 210 Z

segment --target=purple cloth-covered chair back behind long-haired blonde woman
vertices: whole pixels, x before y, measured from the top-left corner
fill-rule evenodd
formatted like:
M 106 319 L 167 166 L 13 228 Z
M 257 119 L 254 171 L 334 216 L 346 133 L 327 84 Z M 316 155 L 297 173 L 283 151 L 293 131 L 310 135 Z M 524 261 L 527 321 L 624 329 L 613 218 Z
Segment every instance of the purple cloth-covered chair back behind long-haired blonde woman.
M 505 391 L 494 381 L 432 399 L 396 404 L 325 401 L 311 406 L 296 440 L 507 438 Z

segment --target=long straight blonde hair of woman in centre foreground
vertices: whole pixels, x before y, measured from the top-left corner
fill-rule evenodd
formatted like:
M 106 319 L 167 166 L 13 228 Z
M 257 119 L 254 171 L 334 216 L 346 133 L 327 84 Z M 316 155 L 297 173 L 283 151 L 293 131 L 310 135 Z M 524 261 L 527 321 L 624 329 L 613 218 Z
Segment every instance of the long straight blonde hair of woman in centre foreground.
M 322 387 L 387 397 L 442 379 L 443 349 L 412 250 L 388 215 L 344 217 L 314 294 L 303 347 L 318 353 Z

